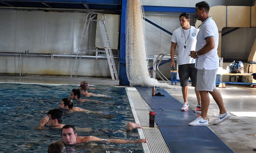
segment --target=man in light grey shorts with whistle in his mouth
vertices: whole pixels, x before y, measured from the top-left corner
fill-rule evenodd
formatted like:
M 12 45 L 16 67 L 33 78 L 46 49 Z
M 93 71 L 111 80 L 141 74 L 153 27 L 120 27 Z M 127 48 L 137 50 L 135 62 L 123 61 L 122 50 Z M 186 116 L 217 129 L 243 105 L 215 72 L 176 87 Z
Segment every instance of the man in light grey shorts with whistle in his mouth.
M 191 51 L 192 58 L 196 59 L 197 68 L 197 90 L 200 92 L 202 100 L 202 112 L 196 120 L 189 125 L 208 125 L 207 111 L 210 104 L 210 93 L 219 106 L 219 117 L 213 124 L 219 124 L 230 117 L 226 111 L 222 96 L 215 87 L 216 73 L 219 67 L 219 56 L 217 48 L 219 43 L 219 32 L 217 25 L 209 16 L 210 6 L 207 2 L 196 3 L 195 15 L 202 21 L 200 31 L 197 35 L 196 51 Z M 199 81 L 200 80 L 200 81 Z

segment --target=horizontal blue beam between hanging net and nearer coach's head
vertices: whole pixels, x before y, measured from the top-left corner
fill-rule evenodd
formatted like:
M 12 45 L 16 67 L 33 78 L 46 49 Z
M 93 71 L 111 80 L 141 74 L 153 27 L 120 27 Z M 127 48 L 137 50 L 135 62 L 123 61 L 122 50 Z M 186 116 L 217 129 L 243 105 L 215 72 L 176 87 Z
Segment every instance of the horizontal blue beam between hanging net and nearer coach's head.
M 171 7 L 171 6 L 143 6 L 145 12 L 163 12 L 163 13 L 195 13 L 195 8 L 189 7 Z

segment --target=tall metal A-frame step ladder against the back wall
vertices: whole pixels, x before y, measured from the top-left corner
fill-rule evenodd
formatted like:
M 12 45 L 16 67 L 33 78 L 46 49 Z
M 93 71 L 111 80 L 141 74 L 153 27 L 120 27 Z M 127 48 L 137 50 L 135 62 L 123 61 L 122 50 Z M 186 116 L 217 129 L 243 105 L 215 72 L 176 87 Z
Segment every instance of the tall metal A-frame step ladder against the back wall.
M 101 19 L 94 19 L 98 15 L 100 15 Z M 75 59 L 75 62 L 74 62 L 74 65 L 73 65 L 73 70 L 72 70 L 71 77 L 70 77 L 71 79 L 72 79 L 72 76 L 73 76 L 74 72 L 76 72 L 76 75 L 77 75 L 82 53 L 88 51 L 88 50 L 84 49 L 84 44 L 85 44 L 85 39 L 86 39 L 87 32 L 88 32 L 89 25 L 90 25 L 91 21 L 96 21 L 96 22 L 99 23 L 99 27 L 100 27 L 100 30 L 101 30 L 101 36 L 102 36 L 102 40 L 103 40 L 104 48 L 105 48 L 105 51 L 101 51 L 101 52 L 106 53 L 106 57 L 107 57 L 107 60 L 108 60 L 108 66 L 109 66 L 109 70 L 110 70 L 110 73 L 111 73 L 112 80 L 118 80 L 119 79 L 118 74 L 117 74 L 117 70 L 116 70 L 116 64 L 115 64 L 113 53 L 112 53 L 112 49 L 111 49 L 110 42 L 109 42 L 109 39 L 108 39 L 108 32 L 107 32 L 106 25 L 105 25 L 105 19 L 106 19 L 106 16 L 102 13 L 88 13 L 87 14 L 85 24 L 84 24 L 83 34 L 82 34 L 82 37 L 81 37 L 81 40 L 80 40 L 80 43 L 79 43 L 79 46 L 78 46 L 78 50 L 77 50 L 77 53 L 76 53 L 76 59 Z M 83 41 L 83 43 L 82 43 L 82 41 Z M 81 45 L 82 45 L 82 47 L 81 47 Z M 98 50 L 96 49 L 95 51 L 96 51 L 96 56 L 97 56 Z M 77 60 L 77 57 L 78 57 L 79 53 L 80 53 L 80 58 L 79 58 L 77 66 L 76 66 L 76 60 Z

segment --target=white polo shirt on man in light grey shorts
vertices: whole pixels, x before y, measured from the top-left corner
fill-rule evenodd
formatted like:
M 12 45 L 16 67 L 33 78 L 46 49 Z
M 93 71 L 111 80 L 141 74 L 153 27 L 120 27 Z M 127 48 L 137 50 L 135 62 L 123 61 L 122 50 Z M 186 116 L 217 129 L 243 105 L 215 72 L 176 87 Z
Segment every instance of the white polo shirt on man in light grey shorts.
M 197 35 L 196 51 L 202 49 L 206 44 L 205 39 L 212 36 L 214 37 L 215 47 L 210 52 L 197 58 L 197 64 L 195 65 L 197 69 L 214 70 L 219 67 L 219 56 L 217 54 L 219 31 L 212 17 L 209 17 L 201 24 Z

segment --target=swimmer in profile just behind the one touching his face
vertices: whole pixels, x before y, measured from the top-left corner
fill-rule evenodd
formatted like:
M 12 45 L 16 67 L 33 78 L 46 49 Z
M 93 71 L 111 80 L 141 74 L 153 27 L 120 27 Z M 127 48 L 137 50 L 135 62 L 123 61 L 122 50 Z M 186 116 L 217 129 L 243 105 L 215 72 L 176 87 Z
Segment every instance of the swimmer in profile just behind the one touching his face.
M 83 108 L 79 108 L 79 107 L 73 107 L 74 103 L 72 101 L 72 99 L 70 98 L 63 98 L 59 108 L 61 109 L 65 109 L 65 110 L 69 110 L 69 111 L 84 111 L 84 112 L 88 112 L 88 113 L 102 113 L 101 111 L 91 111 L 91 110 L 86 110 Z M 68 112 L 71 113 L 71 112 Z

